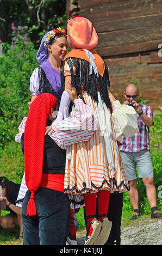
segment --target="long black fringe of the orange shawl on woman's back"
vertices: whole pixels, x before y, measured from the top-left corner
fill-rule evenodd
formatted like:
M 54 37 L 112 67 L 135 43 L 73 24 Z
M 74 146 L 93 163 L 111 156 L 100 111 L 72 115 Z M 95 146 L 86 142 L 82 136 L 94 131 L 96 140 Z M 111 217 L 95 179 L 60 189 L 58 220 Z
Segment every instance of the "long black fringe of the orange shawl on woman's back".
M 101 95 L 101 99 L 105 102 L 108 108 L 110 108 L 110 100 L 108 94 L 108 86 L 110 86 L 109 81 L 109 71 L 107 64 L 105 64 L 105 71 L 103 77 L 92 71 L 92 74 L 89 75 L 89 62 L 84 59 L 79 58 L 67 58 L 67 64 L 70 66 L 71 73 L 71 86 L 76 87 L 77 91 L 83 90 L 88 93 L 88 95 L 92 96 L 92 99 L 98 102 L 98 94 L 97 91 L 99 89 L 99 93 Z M 61 68 L 61 88 L 64 91 L 65 88 L 65 79 L 64 79 L 64 65 Z M 73 67 L 76 69 L 75 75 Z

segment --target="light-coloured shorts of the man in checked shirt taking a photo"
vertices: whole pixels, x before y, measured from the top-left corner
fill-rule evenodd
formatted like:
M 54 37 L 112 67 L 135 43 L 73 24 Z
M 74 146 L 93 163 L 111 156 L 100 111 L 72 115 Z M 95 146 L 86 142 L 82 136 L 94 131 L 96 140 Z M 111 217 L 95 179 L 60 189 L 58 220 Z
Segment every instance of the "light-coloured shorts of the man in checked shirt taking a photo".
M 140 179 L 153 177 L 152 158 L 148 149 L 135 153 L 120 151 L 120 154 L 128 181 L 137 178 L 136 166 L 138 168 Z

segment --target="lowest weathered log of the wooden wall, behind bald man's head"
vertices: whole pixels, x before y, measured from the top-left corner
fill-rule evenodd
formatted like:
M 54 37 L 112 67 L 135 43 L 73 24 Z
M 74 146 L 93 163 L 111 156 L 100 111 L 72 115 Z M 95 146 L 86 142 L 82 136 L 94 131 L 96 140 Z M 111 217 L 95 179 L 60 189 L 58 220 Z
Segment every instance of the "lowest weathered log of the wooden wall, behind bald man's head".
M 128 85 L 132 78 L 138 78 L 141 87 L 140 93 L 142 99 L 147 99 L 148 104 L 153 109 L 162 108 L 162 78 L 161 68 L 162 63 L 148 64 L 150 56 L 153 56 L 155 52 L 148 53 L 147 55 L 138 55 L 133 57 L 121 57 L 121 58 L 104 58 L 104 61 L 109 66 L 110 77 L 110 92 L 112 92 L 117 99 L 123 100 L 123 91 L 126 85 Z

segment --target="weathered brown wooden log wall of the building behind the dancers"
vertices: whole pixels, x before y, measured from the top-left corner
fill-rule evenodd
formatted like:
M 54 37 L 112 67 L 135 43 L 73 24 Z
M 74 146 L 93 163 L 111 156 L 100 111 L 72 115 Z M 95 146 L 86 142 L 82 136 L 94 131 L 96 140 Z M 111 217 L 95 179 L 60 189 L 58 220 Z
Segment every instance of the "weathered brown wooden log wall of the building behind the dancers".
M 89 19 L 98 34 L 96 51 L 109 66 L 111 92 L 123 99 L 132 77 L 142 99 L 162 109 L 162 1 L 67 0 L 67 16 Z

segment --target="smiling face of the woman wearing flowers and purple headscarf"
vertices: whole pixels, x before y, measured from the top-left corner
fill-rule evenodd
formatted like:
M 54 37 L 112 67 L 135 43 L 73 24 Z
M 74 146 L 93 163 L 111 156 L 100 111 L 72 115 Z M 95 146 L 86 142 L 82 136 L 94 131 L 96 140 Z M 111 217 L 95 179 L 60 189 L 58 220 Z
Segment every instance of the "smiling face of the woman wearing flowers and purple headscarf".
M 48 45 L 48 51 L 56 60 L 63 60 L 67 52 L 67 40 L 65 36 L 57 38 L 52 45 Z

